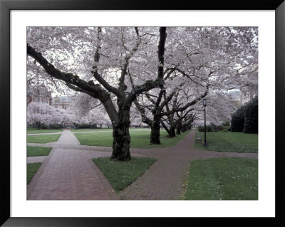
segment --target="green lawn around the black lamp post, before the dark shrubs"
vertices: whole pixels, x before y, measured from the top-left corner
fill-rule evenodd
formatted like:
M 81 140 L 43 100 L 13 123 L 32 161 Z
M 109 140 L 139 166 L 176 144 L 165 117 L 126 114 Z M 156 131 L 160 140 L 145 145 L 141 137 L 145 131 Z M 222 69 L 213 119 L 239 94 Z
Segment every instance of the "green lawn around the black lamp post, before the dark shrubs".
M 195 144 L 195 148 L 209 149 L 217 152 L 258 152 L 258 134 L 246 134 L 243 132 L 207 132 L 207 146 L 204 147 L 204 132 L 196 132 L 196 136 L 202 134 L 202 143 Z

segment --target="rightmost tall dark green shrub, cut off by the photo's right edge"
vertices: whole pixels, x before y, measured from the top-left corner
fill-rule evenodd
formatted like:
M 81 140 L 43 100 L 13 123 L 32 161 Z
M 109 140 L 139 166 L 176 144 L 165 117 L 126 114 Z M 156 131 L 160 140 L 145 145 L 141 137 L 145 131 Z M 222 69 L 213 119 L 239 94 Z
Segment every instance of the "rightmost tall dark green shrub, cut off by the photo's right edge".
M 254 99 L 244 106 L 244 133 L 258 133 L 258 99 Z

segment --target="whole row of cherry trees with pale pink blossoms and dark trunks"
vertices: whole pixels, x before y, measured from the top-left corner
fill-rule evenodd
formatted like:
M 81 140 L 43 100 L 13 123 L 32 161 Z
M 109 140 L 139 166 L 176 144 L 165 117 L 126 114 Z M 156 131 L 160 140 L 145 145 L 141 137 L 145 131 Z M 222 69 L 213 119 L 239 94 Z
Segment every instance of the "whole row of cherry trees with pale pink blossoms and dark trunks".
M 111 158 L 128 160 L 138 115 L 154 144 L 160 125 L 172 137 L 199 122 L 204 97 L 210 122 L 229 117 L 228 90 L 257 90 L 257 46 L 251 27 L 28 27 L 28 78 L 83 94 L 78 112 L 100 102 L 113 126 Z

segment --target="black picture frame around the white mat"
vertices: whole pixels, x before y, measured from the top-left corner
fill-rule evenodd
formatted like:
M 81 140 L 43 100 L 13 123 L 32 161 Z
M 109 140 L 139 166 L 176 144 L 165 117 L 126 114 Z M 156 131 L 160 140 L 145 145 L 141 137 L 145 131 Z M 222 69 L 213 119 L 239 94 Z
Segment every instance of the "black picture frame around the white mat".
M 10 11 L 11 10 L 274 10 L 276 14 L 276 217 L 275 218 L 11 218 L 10 216 Z M 3 226 L 162 226 L 191 223 L 192 225 L 284 226 L 284 174 L 283 137 L 285 97 L 285 2 L 258 0 L 213 1 L 115 1 L 115 0 L 0 0 L 0 119 L 5 134 L 1 135 L 1 201 L 0 224 Z M 110 208 L 110 211 L 112 209 Z

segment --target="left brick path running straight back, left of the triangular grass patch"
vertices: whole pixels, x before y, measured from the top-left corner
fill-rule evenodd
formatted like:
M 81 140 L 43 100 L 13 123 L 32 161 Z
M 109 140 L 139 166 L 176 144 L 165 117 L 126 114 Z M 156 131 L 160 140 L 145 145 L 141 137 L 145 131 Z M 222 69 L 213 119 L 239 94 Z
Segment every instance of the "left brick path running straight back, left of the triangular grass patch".
M 63 131 L 57 142 L 49 144 L 60 144 L 63 147 L 68 144 L 80 147 L 78 139 L 69 130 Z M 53 148 L 28 184 L 27 199 L 118 199 L 118 195 L 108 185 L 108 181 L 106 182 L 105 178 L 100 175 L 95 164 L 90 162 L 91 158 L 86 150 Z

